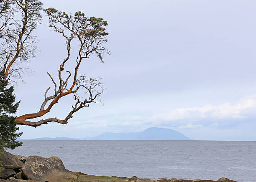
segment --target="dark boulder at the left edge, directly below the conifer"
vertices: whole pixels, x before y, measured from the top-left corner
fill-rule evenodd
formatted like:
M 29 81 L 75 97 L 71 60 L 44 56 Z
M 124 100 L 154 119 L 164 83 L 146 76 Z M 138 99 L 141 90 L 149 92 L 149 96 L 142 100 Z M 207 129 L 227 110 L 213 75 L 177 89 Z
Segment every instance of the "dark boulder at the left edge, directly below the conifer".
M 3 166 L 22 166 L 23 162 L 17 159 L 13 154 L 0 152 L 0 162 Z

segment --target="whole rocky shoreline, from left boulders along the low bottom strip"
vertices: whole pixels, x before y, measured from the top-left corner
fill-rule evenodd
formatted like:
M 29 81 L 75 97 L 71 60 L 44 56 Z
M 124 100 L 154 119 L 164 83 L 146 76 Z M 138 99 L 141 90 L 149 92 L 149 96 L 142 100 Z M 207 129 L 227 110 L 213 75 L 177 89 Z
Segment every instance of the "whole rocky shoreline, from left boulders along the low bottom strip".
M 227 178 L 217 181 L 202 179 L 140 179 L 136 176 L 94 176 L 81 172 L 72 172 L 64 167 L 59 157 L 24 157 L 8 152 L 0 152 L 0 182 L 236 182 Z

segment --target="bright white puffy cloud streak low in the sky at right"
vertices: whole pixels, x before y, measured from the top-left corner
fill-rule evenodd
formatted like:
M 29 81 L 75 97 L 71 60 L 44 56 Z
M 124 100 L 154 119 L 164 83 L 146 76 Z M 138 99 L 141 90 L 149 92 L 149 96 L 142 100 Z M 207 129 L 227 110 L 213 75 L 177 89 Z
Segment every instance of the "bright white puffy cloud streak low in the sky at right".
M 246 96 L 236 104 L 223 103 L 219 105 L 207 104 L 202 107 L 182 107 L 152 116 L 153 121 L 177 121 L 202 119 L 245 119 L 247 115 L 256 111 L 256 94 Z

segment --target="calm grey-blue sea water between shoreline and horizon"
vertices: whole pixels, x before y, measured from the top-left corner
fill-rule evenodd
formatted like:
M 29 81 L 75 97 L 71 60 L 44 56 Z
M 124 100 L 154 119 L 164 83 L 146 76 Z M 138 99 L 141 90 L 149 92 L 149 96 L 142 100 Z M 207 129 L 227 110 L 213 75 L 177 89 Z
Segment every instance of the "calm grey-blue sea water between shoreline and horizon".
M 13 154 L 58 156 L 86 174 L 256 182 L 256 142 L 23 141 Z

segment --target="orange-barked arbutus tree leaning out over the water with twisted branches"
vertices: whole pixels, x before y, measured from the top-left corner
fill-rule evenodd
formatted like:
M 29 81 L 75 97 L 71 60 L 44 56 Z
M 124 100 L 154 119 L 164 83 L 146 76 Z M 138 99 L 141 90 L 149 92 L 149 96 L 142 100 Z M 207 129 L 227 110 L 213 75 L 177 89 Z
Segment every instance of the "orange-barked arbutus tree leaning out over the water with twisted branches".
M 48 73 L 54 84 L 54 94 L 47 96 L 50 87 L 47 88 L 44 93 L 44 101 L 38 112 L 24 114 L 15 119 L 17 124 L 34 127 L 48 124 L 49 122 L 67 124 L 68 120 L 72 118 L 75 112 L 83 107 L 89 107 L 91 103 L 101 102 L 99 96 L 104 92 L 101 78 L 90 78 L 87 80 L 86 76 L 78 76 L 77 72 L 84 59 L 89 58 L 92 54 L 96 54 L 102 63 L 104 62 L 103 54 L 110 54 L 103 46 L 103 44 L 107 42 L 106 36 L 108 35 L 104 28 L 108 23 L 103 21 L 103 18 L 88 18 L 81 11 L 76 12 L 74 15 L 69 15 L 54 8 L 44 9 L 44 12 L 49 17 L 49 26 L 52 30 L 60 33 L 65 38 L 67 57 L 59 66 L 58 83 L 51 74 Z M 76 53 L 77 57 L 74 60 L 70 57 L 72 42 L 79 43 Z M 65 67 L 67 61 L 73 61 L 75 63 L 73 71 Z M 68 73 L 66 77 L 63 76 L 64 71 Z M 83 97 L 78 93 L 78 91 L 81 90 L 85 93 Z M 59 99 L 70 94 L 74 96 L 75 103 L 72 105 L 72 109 L 67 114 L 66 118 L 47 118 L 35 122 L 28 121 L 28 119 L 44 116 L 58 103 Z

